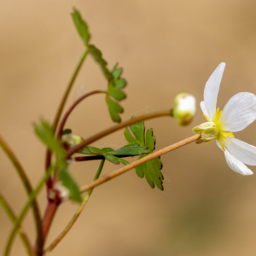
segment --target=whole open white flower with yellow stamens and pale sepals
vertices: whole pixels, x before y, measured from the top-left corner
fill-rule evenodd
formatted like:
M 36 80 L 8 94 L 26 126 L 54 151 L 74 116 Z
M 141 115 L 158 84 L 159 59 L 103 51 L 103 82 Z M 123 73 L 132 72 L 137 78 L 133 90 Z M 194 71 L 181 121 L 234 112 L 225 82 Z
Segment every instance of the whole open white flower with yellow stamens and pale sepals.
M 256 166 L 256 147 L 235 138 L 233 132 L 241 131 L 256 119 L 256 96 L 240 92 L 230 98 L 223 111 L 216 110 L 219 84 L 225 63 L 220 63 L 208 79 L 201 110 L 207 122 L 195 126 L 192 131 L 201 134 L 198 143 L 210 143 L 216 139 L 218 148 L 224 151 L 228 166 L 242 175 L 253 172 L 244 164 Z

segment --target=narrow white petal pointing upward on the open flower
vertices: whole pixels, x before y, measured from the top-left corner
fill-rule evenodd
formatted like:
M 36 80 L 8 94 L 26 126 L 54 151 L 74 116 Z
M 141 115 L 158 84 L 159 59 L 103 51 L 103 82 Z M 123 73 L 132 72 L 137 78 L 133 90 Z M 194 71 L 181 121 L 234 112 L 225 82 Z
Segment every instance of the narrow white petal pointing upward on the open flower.
M 219 84 L 224 73 L 225 63 L 220 63 L 218 67 L 212 73 L 210 79 L 208 79 L 205 91 L 204 101 L 207 108 L 207 112 L 210 115 L 211 120 L 214 119 L 216 114 L 216 102 L 218 97 Z

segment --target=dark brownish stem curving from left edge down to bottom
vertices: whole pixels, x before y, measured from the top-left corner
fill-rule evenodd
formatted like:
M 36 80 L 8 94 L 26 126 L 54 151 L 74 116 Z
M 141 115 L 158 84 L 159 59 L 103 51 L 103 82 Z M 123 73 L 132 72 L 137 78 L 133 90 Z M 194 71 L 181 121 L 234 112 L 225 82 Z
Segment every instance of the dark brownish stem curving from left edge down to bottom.
M 28 177 L 26 177 L 26 172 L 23 169 L 23 167 L 20 165 L 19 160 L 16 158 L 15 154 L 12 152 L 12 150 L 9 148 L 7 143 L 3 141 L 3 138 L 0 136 L 0 146 L 3 148 L 3 151 L 8 155 L 9 160 L 13 163 L 15 166 L 16 171 L 18 172 L 25 188 L 27 195 L 32 194 L 32 185 L 29 182 Z M 41 224 L 41 216 L 39 212 L 38 202 L 34 199 L 32 201 L 32 210 L 33 215 L 35 218 L 36 226 L 37 226 L 37 233 L 38 233 L 38 255 L 42 254 L 43 246 L 44 246 L 44 236 L 43 236 L 43 229 Z

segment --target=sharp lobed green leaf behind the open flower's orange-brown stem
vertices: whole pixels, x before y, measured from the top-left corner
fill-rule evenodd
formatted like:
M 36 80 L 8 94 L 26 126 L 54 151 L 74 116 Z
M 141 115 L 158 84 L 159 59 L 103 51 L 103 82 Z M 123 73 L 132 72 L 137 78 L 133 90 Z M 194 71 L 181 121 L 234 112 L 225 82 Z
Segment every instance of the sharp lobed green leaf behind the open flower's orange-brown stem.
M 133 119 L 132 117 L 131 119 Z M 148 154 L 152 154 L 154 151 L 154 146 L 155 146 L 155 138 L 153 136 L 153 130 L 148 129 L 146 133 L 146 145 L 145 145 L 145 127 L 143 122 L 134 124 L 130 126 L 132 134 L 135 136 L 133 137 L 131 135 L 131 132 L 126 128 L 125 129 L 125 138 L 128 141 L 130 145 L 133 143 L 139 143 L 140 146 L 142 147 L 147 147 L 148 148 L 148 153 L 143 154 L 139 157 L 139 159 L 145 157 Z M 153 160 L 149 160 L 148 162 L 137 166 L 136 172 L 138 177 L 144 177 L 146 178 L 149 186 L 151 188 L 154 188 L 154 185 L 156 185 L 157 188 L 160 190 L 163 190 L 163 175 L 160 172 L 162 168 L 162 162 L 160 160 L 160 157 L 154 158 Z

